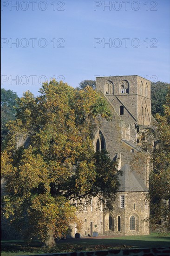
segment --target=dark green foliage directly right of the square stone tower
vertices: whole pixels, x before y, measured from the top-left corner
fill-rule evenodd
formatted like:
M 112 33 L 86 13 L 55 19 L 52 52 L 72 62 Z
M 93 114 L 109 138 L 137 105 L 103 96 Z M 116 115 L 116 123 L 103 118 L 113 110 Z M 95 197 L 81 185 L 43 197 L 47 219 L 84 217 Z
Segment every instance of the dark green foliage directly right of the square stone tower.
M 168 83 L 157 81 L 151 82 L 151 113 L 155 116 L 157 113 L 163 115 L 163 105 L 166 102 L 166 95 L 168 93 Z

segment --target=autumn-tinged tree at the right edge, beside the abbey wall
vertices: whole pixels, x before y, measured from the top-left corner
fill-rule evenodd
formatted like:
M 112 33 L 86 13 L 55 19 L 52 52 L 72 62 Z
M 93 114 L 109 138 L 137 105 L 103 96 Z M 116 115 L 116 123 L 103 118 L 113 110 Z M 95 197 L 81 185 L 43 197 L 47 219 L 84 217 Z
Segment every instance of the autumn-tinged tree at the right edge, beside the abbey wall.
M 163 106 L 163 115 L 157 114 L 157 144 L 150 174 L 150 222 L 170 229 L 170 88 Z

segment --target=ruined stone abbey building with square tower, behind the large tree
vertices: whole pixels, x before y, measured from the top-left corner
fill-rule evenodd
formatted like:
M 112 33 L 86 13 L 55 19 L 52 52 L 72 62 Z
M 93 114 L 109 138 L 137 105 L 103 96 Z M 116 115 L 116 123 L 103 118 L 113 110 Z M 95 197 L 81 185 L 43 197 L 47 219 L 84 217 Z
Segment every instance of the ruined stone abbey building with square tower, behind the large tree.
M 111 159 L 117 159 L 122 170 L 121 186 L 112 212 L 107 212 L 93 198 L 90 206 L 78 211 L 83 225 L 81 236 L 146 235 L 149 206 L 145 201 L 148 191 L 150 155 L 141 148 L 143 132 L 152 125 L 150 81 L 137 76 L 97 77 L 97 91 L 108 101 L 112 119 L 98 117 L 94 149 L 106 148 Z M 96 227 L 95 227 L 96 226 Z M 72 227 L 72 236 L 77 232 Z

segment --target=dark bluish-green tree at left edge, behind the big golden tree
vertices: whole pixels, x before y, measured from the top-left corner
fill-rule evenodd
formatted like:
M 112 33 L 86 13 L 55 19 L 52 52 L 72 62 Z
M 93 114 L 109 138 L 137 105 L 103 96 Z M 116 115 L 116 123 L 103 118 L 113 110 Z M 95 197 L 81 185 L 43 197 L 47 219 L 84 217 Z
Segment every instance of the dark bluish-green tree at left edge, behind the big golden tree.
M 18 95 L 13 91 L 1 89 L 1 148 L 5 148 L 5 138 L 8 132 L 6 124 L 15 119 L 17 98 Z

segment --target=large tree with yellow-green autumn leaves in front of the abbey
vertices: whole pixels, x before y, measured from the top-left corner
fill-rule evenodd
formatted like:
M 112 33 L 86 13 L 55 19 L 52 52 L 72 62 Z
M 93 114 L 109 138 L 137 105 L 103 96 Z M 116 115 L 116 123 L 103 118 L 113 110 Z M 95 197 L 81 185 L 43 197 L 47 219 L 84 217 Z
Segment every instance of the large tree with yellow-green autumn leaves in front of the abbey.
M 26 223 L 27 237 L 54 246 L 69 223 L 78 223 L 75 200 L 98 196 L 111 205 L 118 171 L 107 152 L 93 148 L 95 117 L 111 118 L 104 98 L 91 87 L 78 91 L 55 80 L 39 91 L 18 100 L 17 119 L 8 123 L 3 213 Z

